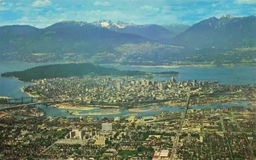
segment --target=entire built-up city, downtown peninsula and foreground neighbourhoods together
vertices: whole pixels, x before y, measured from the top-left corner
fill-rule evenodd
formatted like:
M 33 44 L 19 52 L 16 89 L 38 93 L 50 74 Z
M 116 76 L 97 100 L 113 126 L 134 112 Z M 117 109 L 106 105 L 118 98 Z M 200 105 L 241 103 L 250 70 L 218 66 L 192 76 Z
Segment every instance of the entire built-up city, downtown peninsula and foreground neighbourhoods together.
M 142 107 L 143 102 L 177 106 L 185 102 L 187 95 L 192 105 L 231 100 L 253 102 L 256 90 L 255 84 L 177 82 L 174 76 L 162 82 L 92 75 L 33 82 L 26 92 L 38 96 L 39 100 L 76 99 L 74 103 L 67 103 L 71 109 L 89 104 L 120 107 L 120 104 L 131 103 L 132 107 L 136 104 Z M 144 111 L 142 109 L 129 110 Z M 154 107 L 151 109 L 154 111 Z M 252 107 L 191 109 L 186 106 L 184 112 L 160 111 L 155 116 L 126 115 L 126 119 L 121 116 L 99 120 L 46 117 L 42 110 L 26 106 L 3 108 L 0 112 L 0 159 L 253 160 L 255 114 Z

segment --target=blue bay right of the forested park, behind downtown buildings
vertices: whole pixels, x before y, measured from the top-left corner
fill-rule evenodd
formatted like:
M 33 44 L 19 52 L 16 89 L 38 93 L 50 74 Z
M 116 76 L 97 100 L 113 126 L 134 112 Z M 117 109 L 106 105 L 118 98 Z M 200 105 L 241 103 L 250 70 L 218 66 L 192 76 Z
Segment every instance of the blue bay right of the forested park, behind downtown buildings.
M 126 65 L 102 65 L 118 70 L 132 70 L 144 72 L 179 72 L 176 79 L 179 81 L 193 80 L 211 81 L 216 80 L 219 84 L 246 85 L 256 83 L 256 66 L 237 66 L 237 67 L 133 67 Z M 170 76 L 156 76 L 155 81 L 169 80 Z

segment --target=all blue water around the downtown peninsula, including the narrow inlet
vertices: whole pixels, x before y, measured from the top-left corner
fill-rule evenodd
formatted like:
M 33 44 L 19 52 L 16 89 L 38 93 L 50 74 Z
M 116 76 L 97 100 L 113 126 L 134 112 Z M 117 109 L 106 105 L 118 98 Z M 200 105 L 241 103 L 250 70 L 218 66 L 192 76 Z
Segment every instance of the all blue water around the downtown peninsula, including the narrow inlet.
M 48 63 L 22 63 L 22 62 L 2 62 L 0 63 L 0 74 L 12 71 L 23 71 L 27 68 L 31 68 L 38 65 L 46 65 Z M 197 79 L 198 81 L 207 80 L 217 80 L 220 84 L 233 84 L 233 85 L 246 85 L 254 84 L 256 82 L 256 67 L 255 66 L 239 66 L 239 67 L 178 67 L 178 68 L 144 68 L 144 67 L 132 67 L 123 65 L 103 65 L 105 67 L 115 67 L 119 70 L 138 70 L 145 72 L 164 72 L 164 71 L 176 71 L 179 75 L 176 77 L 177 80 L 192 80 Z M 153 78 L 155 81 L 164 81 L 169 79 L 169 76 L 156 76 Z M 0 77 L 0 96 L 7 96 L 12 98 L 29 97 L 26 93 L 20 90 L 21 87 L 30 85 L 30 83 L 25 83 L 18 81 L 15 78 L 5 78 Z M 240 104 L 220 104 L 220 105 L 209 105 L 208 107 L 227 107 L 227 106 L 244 106 L 248 107 L 245 103 Z M 38 105 L 46 112 L 46 116 L 64 116 L 73 117 L 70 113 L 66 112 L 66 109 L 59 109 L 54 107 L 46 107 L 44 105 Z M 204 108 L 205 106 L 194 106 L 193 108 Z M 146 108 L 145 108 L 146 109 Z M 90 114 L 92 118 L 100 117 L 125 117 L 131 114 L 136 114 L 137 116 L 153 116 L 160 111 L 180 111 L 183 110 L 180 107 L 167 107 L 161 106 L 158 110 L 147 110 L 145 112 L 133 112 L 129 110 L 119 110 L 120 113 L 112 115 L 93 115 Z M 104 109 L 104 111 L 106 111 Z M 83 110 L 80 113 L 86 115 L 88 112 L 103 112 L 102 109 L 93 110 Z M 79 117 L 79 116 L 77 116 Z

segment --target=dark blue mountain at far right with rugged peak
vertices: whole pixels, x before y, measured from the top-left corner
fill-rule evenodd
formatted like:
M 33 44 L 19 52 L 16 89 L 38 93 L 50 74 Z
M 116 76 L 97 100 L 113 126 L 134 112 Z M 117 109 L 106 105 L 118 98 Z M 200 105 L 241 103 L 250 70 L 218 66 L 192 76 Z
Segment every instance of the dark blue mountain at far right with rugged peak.
M 256 45 L 256 17 L 210 17 L 174 37 L 173 42 L 195 48 L 253 47 Z

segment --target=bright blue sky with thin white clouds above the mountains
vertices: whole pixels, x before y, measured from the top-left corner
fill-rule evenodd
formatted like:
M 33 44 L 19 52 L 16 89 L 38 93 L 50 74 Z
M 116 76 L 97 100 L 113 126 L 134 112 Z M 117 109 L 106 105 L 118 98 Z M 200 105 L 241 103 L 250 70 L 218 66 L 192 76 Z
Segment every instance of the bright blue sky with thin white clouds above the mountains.
M 44 28 L 62 20 L 188 24 L 224 14 L 256 13 L 256 0 L 0 0 L 0 26 Z

